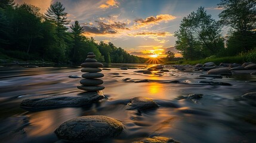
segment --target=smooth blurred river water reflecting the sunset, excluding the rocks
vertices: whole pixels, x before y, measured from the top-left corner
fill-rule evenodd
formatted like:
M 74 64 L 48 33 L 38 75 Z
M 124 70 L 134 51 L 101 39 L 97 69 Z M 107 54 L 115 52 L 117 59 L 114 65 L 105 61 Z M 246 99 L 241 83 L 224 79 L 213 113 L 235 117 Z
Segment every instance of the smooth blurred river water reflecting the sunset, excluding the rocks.
M 43 111 L 20 108 L 24 99 L 44 95 L 79 94 L 76 88 L 81 75 L 79 67 L 0 67 L 0 142 L 61 142 L 54 130 L 66 120 L 88 115 L 104 115 L 120 120 L 124 132 L 107 142 L 133 142 L 141 138 L 165 136 L 179 142 L 255 142 L 256 106 L 239 101 L 248 92 L 256 92 L 256 76 L 233 74 L 214 79 L 205 71 L 189 72 L 169 69 L 158 75 L 135 73 L 139 69 L 120 70 L 120 65 L 103 70 L 105 99 L 84 107 L 65 107 Z M 119 73 L 119 74 L 111 74 Z M 133 83 L 122 79 L 148 79 Z M 179 80 L 181 83 L 169 83 Z M 204 85 L 199 81 L 226 82 L 232 86 Z M 197 100 L 182 99 L 189 94 L 203 94 Z M 131 98 L 148 97 L 159 108 L 138 113 L 125 110 Z

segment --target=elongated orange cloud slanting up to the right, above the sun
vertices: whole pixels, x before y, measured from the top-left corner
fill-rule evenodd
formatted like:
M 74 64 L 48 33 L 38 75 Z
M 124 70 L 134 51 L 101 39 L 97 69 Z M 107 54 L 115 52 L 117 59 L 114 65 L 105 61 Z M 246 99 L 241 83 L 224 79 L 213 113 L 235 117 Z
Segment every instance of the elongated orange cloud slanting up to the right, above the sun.
M 174 20 L 175 18 L 177 17 L 169 14 L 160 14 L 160 15 L 156 15 L 156 17 L 150 16 L 150 17 L 147 17 L 146 19 L 138 18 L 134 20 L 135 22 L 134 27 L 138 29 L 140 27 L 146 27 L 152 24 L 159 24 L 162 21 L 167 22 L 169 20 Z

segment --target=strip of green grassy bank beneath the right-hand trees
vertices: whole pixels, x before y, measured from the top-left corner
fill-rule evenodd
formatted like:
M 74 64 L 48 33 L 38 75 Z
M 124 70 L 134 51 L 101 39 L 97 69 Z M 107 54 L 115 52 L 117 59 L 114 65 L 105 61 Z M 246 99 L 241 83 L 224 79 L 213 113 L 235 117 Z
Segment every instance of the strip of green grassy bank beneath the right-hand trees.
M 253 49 L 248 52 L 242 52 L 239 55 L 232 56 L 232 57 L 209 57 L 209 58 L 195 60 L 195 61 L 190 61 L 190 60 L 168 61 L 164 64 L 195 65 L 195 64 L 203 64 L 203 63 L 210 62 L 210 61 L 214 62 L 217 65 L 220 63 L 238 63 L 238 64 L 242 64 L 245 62 L 256 63 L 256 49 Z

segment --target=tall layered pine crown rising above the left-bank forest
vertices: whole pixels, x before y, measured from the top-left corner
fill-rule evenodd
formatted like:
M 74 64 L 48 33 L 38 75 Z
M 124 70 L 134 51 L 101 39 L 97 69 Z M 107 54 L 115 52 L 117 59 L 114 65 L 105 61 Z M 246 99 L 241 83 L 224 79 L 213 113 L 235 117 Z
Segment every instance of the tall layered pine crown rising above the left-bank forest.
M 69 24 L 69 20 L 67 20 L 67 13 L 64 12 L 65 8 L 60 2 L 55 2 L 54 4 L 50 5 L 50 8 L 48 8 L 47 13 L 45 13 L 45 17 L 48 20 L 54 21 L 54 23 L 57 26 L 57 33 L 58 35 L 61 34 L 61 32 L 67 30 L 67 27 L 64 25 Z

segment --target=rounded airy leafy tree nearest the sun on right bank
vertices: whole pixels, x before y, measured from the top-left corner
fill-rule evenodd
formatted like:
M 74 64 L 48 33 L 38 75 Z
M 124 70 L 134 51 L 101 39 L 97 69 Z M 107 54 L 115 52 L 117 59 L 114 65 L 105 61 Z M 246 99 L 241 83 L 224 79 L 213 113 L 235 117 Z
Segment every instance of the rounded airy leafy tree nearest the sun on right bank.
M 224 48 L 220 31 L 220 24 L 199 7 L 183 18 L 180 29 L 175 32 L 177 49 L 191 60 L 195 53 L 197 58 L 217 55 Z

